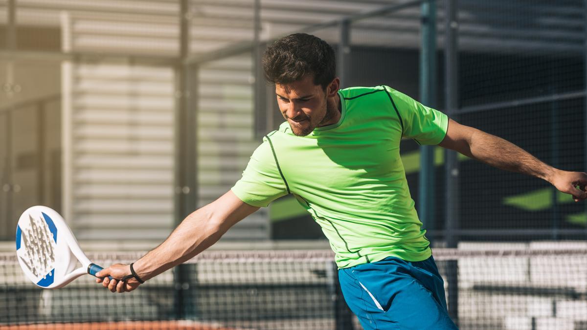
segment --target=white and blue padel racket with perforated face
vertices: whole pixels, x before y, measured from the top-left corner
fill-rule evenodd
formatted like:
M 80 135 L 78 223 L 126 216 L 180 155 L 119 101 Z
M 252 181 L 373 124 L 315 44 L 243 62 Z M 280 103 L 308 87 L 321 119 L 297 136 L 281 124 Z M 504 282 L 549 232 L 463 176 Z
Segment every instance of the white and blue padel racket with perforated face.
M 46 206 L 22 213 L 16 225 L 16 255 L 26 277 L 46 289 L 64 287 L 83 274 L 96 276 L 102 270 L 80 249 L 61 215 Z M 82 267 L 76 268 L 78 260 Z

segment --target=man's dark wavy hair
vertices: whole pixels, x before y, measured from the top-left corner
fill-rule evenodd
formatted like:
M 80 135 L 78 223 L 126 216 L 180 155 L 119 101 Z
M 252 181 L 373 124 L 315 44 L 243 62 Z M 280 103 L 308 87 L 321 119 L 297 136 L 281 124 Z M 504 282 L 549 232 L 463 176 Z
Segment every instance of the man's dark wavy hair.
M 279 85 L 314 76 L 314 85 L 323 90 L 336 77 L 334 49 L 317 36 L 294 33 L 269 46 L 262 59 L 265 79 Z

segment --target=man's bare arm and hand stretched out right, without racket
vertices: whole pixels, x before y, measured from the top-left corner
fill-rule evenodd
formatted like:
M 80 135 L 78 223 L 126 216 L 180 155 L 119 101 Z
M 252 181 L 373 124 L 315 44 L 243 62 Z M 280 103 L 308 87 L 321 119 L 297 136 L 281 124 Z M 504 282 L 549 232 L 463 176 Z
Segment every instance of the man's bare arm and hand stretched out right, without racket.
M 587 198 L 587 173 L 555 169 L 501 137 L 461 125 L 452 119 L 448 120 L 446 136 L 438 145 L 498 169 L 546 180 L 563 193 L 571 194 L 575 201 Z

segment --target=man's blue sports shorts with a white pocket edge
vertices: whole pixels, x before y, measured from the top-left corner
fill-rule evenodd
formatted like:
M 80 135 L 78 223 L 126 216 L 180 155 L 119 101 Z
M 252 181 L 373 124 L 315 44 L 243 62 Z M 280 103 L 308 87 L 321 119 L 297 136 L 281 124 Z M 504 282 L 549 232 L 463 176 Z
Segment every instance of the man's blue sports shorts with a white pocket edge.
M 341 268 L 340 288 L 365 329 L 458 329 L 448 316 L 444 281 L 430 257 L 389 257 Z

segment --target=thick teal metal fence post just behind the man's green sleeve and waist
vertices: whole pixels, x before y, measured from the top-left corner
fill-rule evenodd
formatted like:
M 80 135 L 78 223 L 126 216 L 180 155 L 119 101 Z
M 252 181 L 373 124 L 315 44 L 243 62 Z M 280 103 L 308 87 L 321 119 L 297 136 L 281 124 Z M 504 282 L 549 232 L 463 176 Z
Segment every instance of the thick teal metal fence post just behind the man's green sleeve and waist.
M 436 1 L 426 0 L 421 5 L 420 102 L 436 107 Z M 432 242 L 434 231 L 434 166 L 435 146 L 420 146 L 419 210 L 418 215 Z

